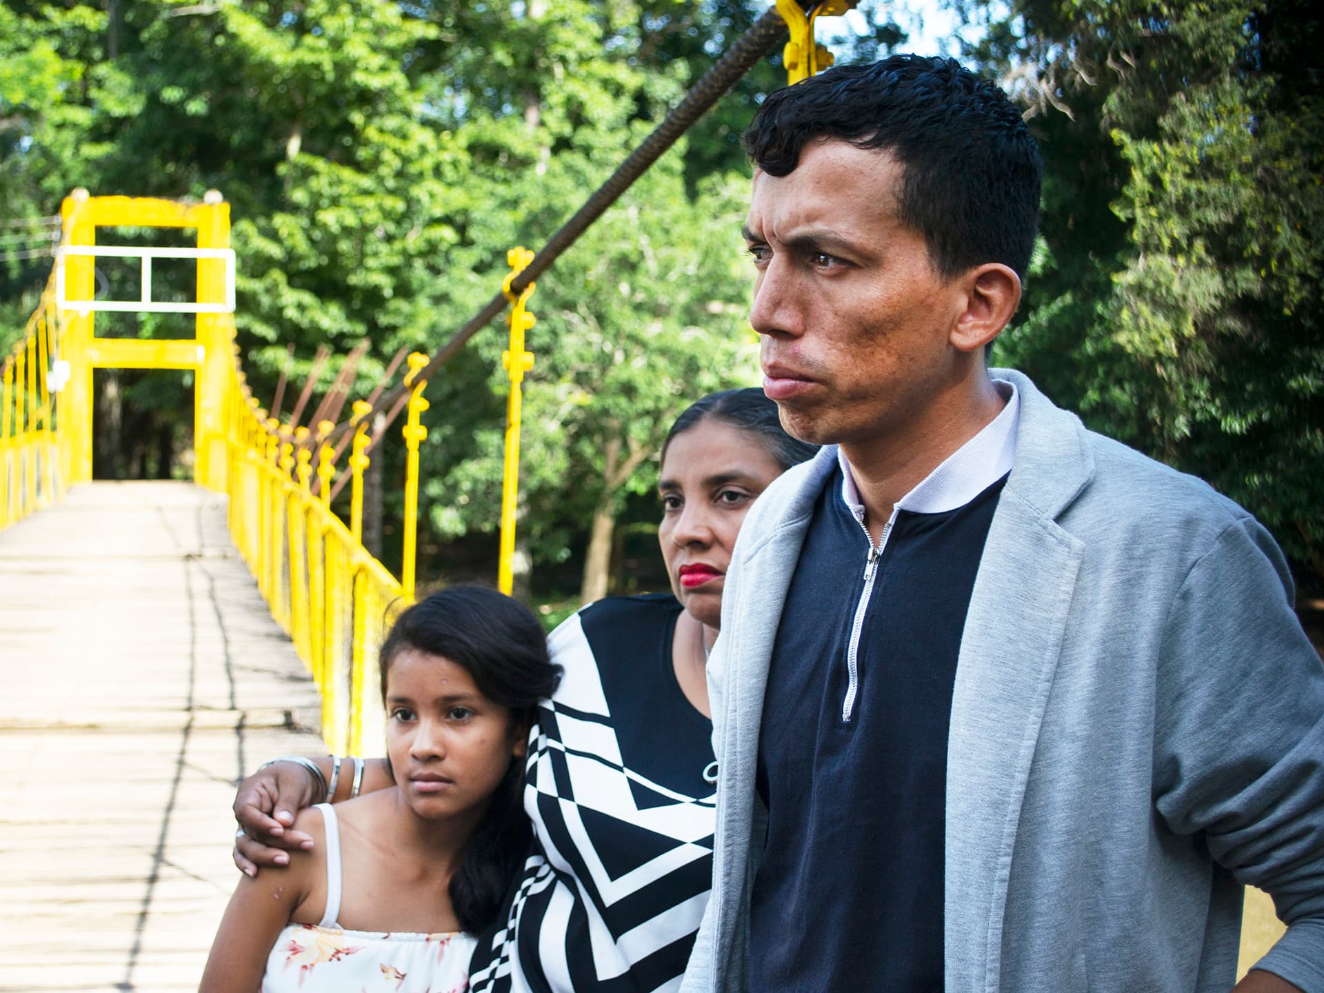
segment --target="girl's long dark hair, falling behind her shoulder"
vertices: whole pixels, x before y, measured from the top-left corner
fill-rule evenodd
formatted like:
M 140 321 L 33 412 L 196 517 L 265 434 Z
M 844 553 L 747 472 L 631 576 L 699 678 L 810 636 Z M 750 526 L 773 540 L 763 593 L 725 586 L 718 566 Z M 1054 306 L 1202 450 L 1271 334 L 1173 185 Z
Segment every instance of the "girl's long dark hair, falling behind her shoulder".
M 547 655 L 547 636 L 520 602 L 495 589 L 450 587 L 420 600 L 396 620 L 381 646 L 381 699 L 396 657 L 416 649 L 462 666 L 493 703 L 531 727 L 538 702 L 560 682 L 560 666 Z M 450 878 L 450 903 L 461 927 L 483 931 L 500 910 L 532 839 L 524 816 L 524 763 L 511 759 L 474 829 L 459 869 Z

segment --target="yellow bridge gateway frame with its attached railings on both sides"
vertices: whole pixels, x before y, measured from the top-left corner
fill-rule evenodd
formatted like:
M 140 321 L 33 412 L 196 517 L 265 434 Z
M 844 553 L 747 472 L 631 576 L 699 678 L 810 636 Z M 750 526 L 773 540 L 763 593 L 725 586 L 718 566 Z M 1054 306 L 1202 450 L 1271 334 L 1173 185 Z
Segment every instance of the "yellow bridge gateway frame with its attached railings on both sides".
M 269 417 L 248 385 L 232 312 L 229 205 L 220 195 L 199 204 L 75 191 L 62 217 L 56 269 L 25 336 L 3 361 L 0 528 L 58 499 L 69 485 L 90 482 L 94 369 L 191 369 L 195 479 L 229 498 L 234 544 L 320 690 L 327 747 L 352 755 L 375 749 L 384 731 L 377 650 L 389 614 L 414 591 L 418 445 L 428 434 L 420 371 L 428 356 L 410 355 L 405 377 L 405 548 L 397 579 L 361 540 L 363 475 L 369 451 L 383 441 L 368 430 L 371 404 L 356 401 L 347 424 L 320 421 L 310 429 Z M 197 248 L 98 244 L 98 230 L 107 228 L 191 228 Z M 143 260 L 138 301 L 94 297 L 98 256 Z M 151 299 L 151 260 L 162 256 L 196 260 L 195 301 Z M 102 310 L 193 314 L 195 336 L 97 338 Z M 389 426 L 389 418 L 381 422 Z M 332 436 L 343 436 L 343 444 L 332 444 Z M 348 522 L 331 504 L 343 483 L 352 485 Z

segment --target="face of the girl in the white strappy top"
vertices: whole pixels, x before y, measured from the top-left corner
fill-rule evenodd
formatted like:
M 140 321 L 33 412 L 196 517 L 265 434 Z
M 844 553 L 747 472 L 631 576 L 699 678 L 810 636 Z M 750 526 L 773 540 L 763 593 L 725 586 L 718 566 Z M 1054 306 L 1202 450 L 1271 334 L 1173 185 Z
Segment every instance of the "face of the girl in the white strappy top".
M 482 809 L 522 757 L 528 730 L 493 703 L 463 666 L 405 647 L 387 670 L 387 753 L 396 785 L 421 817 Z

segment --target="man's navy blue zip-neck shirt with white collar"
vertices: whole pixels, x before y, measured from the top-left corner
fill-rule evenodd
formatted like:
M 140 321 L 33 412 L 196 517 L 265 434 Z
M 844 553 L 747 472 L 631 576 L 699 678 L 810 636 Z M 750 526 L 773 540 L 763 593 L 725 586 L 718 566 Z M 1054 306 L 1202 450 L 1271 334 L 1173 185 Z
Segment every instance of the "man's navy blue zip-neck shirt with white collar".
M 749 988 L 943 989 L 947 732 L 1019 402 L 898 500 L 875 545 L 841 466 L 805 535 L 764 695 L 768 838 Z

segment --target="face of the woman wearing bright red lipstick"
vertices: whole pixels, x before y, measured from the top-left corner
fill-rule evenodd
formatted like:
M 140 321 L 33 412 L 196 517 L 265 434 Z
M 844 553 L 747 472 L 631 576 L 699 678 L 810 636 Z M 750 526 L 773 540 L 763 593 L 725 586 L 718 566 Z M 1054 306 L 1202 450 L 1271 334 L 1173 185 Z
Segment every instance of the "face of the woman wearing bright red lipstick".
M 756 434 L 711 417 L 667 446 L 658 482 L 662 557 L 677 600 L 710 628 L 722 621 L 722 587 L 745 511 L 779 475 Z

